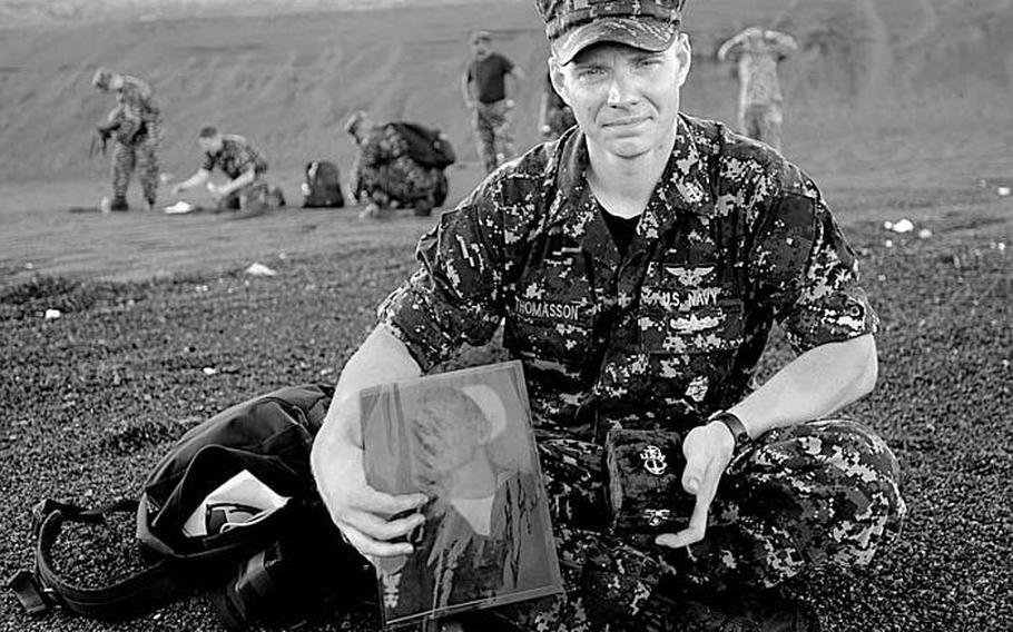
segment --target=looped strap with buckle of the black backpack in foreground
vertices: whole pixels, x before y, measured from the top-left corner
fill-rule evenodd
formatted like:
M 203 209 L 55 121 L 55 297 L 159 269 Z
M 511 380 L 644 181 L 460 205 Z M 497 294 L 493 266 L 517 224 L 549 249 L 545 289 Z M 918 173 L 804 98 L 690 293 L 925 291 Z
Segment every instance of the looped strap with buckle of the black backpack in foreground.
M 43 501 L 32 508 L 35 570 L 16 573 L 7 587 L 12 590 L 29 614 L 40 615 L 55 606 L 90 618 L 122 620 L 150 612 L 189 591 L 173 572 L 171 560 L 161 560 L 117 582 L 83 587 L 65 580 L 53 567 L 52 546 L 63 523 L 104 524 L 107 515 L 136 512 L 137 501 L 117 501 L 89 510 L 77 505 Z

